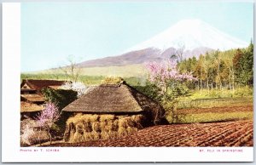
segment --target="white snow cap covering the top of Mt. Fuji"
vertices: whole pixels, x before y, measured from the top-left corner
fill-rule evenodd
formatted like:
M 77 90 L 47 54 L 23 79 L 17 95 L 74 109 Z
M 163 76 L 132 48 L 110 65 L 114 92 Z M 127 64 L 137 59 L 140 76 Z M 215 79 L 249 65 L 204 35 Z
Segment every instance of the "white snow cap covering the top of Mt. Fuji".
M 247 44 L 201 20 L 181 20 L 166 31 L 129 48 L 126 52 L 143 48 L 159 48 L 164 51 L 166 48 L 181 47 L 184 47 L 185 50 L 195 48 L 227 50 L 230 48 L 244 48 L 247 47 Z

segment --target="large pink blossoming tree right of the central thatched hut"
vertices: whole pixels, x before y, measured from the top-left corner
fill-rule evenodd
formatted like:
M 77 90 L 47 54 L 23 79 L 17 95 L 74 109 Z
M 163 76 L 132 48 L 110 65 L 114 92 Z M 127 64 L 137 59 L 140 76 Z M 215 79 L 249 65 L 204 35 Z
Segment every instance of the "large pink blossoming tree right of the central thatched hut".
M 162 94 L 167 96 L 168 88 L 177 82 L 196 80 L 191 73 L 180 73 L 175 60 L 150 62 L 146 65 L 149 71 L 149 81 L 162 88 Z

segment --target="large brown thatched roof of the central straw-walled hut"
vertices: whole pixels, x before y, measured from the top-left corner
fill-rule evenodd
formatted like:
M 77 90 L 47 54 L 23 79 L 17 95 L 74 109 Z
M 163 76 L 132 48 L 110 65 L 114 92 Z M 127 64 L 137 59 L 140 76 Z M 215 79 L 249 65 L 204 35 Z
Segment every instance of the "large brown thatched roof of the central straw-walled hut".
M 161 109 L 161 107 L 154 100 L 123 82 L 89 88 L 86 94 L 67 105 L 62 111 L 131 113 L 148 109 Z

